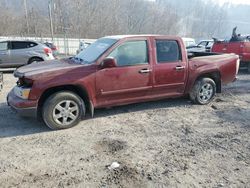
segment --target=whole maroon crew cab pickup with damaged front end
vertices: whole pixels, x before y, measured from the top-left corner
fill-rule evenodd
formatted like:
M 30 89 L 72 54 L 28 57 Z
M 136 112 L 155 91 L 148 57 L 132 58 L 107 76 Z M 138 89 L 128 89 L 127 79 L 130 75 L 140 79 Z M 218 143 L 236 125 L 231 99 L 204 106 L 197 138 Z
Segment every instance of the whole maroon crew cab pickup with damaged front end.
M 236 79 L 238 68 L 234 54 L 188 57 L 179 37 L 109 36 L 75 57 L 17 69 L 7 101 L 21 115 L 65 129 L 96 108 L 186 95 L 208 104 L 222 84 Z

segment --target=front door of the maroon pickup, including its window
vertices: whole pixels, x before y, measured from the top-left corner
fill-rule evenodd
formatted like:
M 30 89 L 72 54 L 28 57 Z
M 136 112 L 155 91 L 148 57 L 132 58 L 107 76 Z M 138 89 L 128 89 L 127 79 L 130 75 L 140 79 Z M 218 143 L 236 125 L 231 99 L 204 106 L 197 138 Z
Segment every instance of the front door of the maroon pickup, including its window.
M 96 89 L 98 106 L 136 102 L 152 89 L 152 68 L 146 40 L 126 41 L 115 48 L 117 67 L 98 70 Z

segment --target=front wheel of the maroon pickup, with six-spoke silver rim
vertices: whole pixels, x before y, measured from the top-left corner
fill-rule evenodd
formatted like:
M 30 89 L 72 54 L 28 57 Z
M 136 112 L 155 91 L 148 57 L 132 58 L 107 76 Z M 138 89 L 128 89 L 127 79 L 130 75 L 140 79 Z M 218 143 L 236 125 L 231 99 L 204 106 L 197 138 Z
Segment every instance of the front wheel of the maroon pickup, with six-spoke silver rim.
M 68 129 L 77 125 L 85 116 L 83 100 L 73 92 L 63 91 L 51 95 L 42 108 L 45 124 L 53 129 Z

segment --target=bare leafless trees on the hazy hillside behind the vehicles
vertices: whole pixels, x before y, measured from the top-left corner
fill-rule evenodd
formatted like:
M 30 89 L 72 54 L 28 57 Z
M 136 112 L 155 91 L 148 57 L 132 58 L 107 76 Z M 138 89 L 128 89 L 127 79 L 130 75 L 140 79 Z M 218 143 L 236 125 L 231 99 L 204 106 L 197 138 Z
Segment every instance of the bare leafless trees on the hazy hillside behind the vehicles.
M 50 36 L 49 0 L 0 0 L 0 36 Z M 212 0 L 51 0 L 56 36 L 223 36 L 227 11 Z M 27 24 L 28 27 L 27 28 Z

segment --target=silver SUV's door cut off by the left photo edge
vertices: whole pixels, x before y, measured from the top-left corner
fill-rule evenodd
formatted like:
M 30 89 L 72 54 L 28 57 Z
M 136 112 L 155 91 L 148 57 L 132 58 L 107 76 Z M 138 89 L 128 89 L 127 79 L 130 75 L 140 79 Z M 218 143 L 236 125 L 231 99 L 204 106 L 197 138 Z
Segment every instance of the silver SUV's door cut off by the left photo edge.
M 9 42 L 0 42 L 0 67 L 8 67 L 10 63 Z

